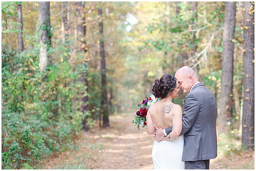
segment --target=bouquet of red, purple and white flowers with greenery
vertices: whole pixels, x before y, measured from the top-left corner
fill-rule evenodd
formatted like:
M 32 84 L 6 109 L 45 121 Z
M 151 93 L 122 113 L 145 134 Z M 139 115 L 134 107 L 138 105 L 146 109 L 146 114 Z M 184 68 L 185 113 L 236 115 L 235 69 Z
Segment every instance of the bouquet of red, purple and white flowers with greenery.
M 135 118 L 134 120 L 132 120 L 132 123 L 134 123 L 133 125 L 136 124 L 138 130 L 140 130 L 140 126 L 142 126 L 142 128 L 147 126 L 146 116 L 148 113 L 148 109 L 150 108 L 151 105 L 158 102 L 159 100 L 160 98 L 156 98 L 151 92 L 147 94 L 146 100 L 143 100 L 141 104 L 138 104 Z

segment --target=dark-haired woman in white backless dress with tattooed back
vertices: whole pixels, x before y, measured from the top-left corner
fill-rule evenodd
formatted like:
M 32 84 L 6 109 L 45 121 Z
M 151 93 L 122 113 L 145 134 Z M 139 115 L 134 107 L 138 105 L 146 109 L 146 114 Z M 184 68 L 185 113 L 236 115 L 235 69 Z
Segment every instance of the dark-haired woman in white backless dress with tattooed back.
M 174 104 L 172 99 L 178 97 L 179 84 L 174 76 L 165 74 L 156 79 L 153 85 L 153 95 L 161 100 L 151 106 L 147 113 L 147 133 L 154 134 L 159 127 L 165 129 L 173 126 L 172 132 L 162 140 L 154 141 L 152 159 L 154 169 L 185 169 L 181 161 L 184 136 L 182 130 L 182 108 Z

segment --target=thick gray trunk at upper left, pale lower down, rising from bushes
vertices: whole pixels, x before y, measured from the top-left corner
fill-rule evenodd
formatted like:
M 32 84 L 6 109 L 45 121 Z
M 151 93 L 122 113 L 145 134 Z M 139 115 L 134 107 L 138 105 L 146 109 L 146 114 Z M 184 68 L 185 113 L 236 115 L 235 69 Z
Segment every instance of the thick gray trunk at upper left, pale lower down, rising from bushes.
M 39 2 L 39 34 L 40 34 L 40 73 L 44 74 L 48 65 L 48 48 L 51 46 L 50 2 Z M 44 81 L 44 76 L 42 76 Z

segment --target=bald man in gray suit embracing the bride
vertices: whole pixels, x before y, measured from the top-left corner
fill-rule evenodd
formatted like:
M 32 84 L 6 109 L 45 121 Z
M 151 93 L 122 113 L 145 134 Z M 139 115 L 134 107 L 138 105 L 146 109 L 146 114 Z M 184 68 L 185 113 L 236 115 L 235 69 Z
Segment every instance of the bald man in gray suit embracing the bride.
M 185 98 L 182 116 L 184 146 L 182 161 L 187 169 L 209 169 L 210 159 L 217 157 L 217 102 L 215 96 L 197 80 L 196 73 L 183 66 L 175 73 Z M 159 129 L 153 137 L 159 141 L 172 127 Z

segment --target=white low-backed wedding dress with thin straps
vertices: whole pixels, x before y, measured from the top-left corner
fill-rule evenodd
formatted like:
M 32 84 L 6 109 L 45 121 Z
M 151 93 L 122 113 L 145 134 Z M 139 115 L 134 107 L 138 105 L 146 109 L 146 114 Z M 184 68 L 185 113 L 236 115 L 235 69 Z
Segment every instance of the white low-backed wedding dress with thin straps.
M 154 141 L 152 149 L 154 169 L 185 169 L 185 162 L 181 161 L 183 143 L 183 135 L 178 136 L 173 140 L 160 142 Z

